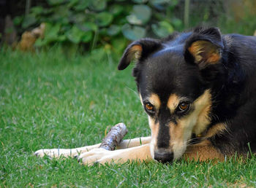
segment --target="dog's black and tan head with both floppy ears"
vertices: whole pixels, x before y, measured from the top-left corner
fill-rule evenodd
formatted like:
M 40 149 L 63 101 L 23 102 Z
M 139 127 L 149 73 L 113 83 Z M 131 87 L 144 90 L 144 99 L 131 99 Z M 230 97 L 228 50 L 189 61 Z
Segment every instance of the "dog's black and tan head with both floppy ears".
M 197 28 L 163 40 L 140 39 L 125 50 L 118 69 L 137 60 L 133 76 L 148 114 L 155 160 L 181 157 L 192 134 L 206 130 L 222 49 L 219 29 Z

